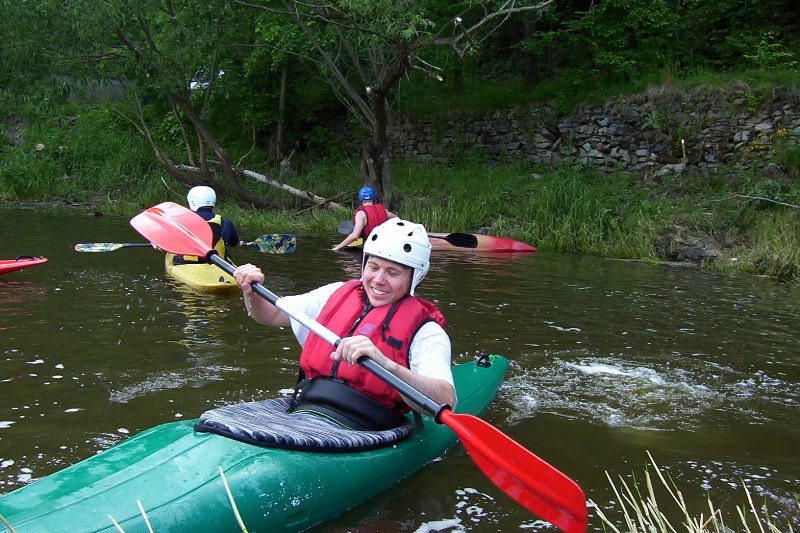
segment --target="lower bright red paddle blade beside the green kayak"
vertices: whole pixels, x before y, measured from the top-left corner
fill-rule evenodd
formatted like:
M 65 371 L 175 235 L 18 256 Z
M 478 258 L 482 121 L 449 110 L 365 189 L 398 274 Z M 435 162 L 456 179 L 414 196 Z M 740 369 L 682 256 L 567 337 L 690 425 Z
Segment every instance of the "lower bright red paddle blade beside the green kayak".
M 577 483 L 478 417 L 444 410 L 475 464 L 520 505 L 566 533 L 585 533 L 586 497 Z

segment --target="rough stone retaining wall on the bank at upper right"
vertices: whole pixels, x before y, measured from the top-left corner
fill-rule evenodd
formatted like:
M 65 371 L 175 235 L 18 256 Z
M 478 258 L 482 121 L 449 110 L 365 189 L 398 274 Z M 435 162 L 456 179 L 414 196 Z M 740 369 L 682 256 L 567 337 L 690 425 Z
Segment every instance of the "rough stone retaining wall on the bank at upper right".
M 474 157 L 647 176 L 756 165 L 782 173 L 790 170 L 782 154 L 800 142 L 800 93 L 779 88 L 758 94 L 744 84 L 662 89 L 584 105 L 569 116 L 532 106 L 485 116 L 401 118 L 394 138 L 395 157 L 421 162 Z

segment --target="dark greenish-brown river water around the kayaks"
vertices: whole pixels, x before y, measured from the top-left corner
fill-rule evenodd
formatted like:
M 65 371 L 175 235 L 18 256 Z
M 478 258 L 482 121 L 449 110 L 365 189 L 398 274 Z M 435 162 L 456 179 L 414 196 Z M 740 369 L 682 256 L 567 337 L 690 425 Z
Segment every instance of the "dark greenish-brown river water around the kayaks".
M 297 373 L 290 332 L 240 296 L 165 277 L 128 220 L 0 207 L 3 257 L 49 262 L 0 277 L 0 493 L 154 425 L 278 395 Z M 283 228 L 239 228 L 246 240 Z M 279 295 L 358 276 L 340 236 L 298 235 L 283 256 L 237 250 Z M 535 244 L 535 243 L 534 243 Z M 434 252 L 419 295 L 448 321 L 454 362 L 511 361 L 485 419 L 576 480 L 616 520 L 607 479 L 641 483 L 650 460 L 690 511 L 707 498 L 766 504 L 800 527 L 800 287 L 690 267 L 537 252 Z M 747 492 L 745 491 L 747 489 Z M 658 491 L 658 489 L 657 489 Z M 674 524 L 680 513 L 661 491 Z M 680 526 L 678 526 L 680 527 Z M 395 488 L 315 530 L 552 530 L 494 487 L 458 445 Z M 589 529 L 602 523 L 590 509 Z

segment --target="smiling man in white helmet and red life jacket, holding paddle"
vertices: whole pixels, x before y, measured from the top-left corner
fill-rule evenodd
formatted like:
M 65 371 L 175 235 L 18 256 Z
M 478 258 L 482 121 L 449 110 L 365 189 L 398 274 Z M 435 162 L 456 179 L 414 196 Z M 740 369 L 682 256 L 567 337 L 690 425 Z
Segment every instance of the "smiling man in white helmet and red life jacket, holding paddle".
M 350 423 L 353 417 L 348 418 L 347 413 L 342 422 L 353 429 L 398 425 L 402 421 L 398 417 L 413 406 L 357 365 L 361 357 L 372 358 L 436 403 L 454 406 L 450 338 L 444 331 L 444 317 L 434 304 L 414 295 L 428 273 L 430 253 L 422 225 L 393 218 L 375 228 L 364 243 L 360 280 L 331 283 L 282 298 L 341 337 L 336 348 L 254 295 L 251 283 L 264 283 L 261 269 L 251 264 L 236 269 L 234 278 L 242 289 L 247 313 L 261 324 L 291 326 L 302 346 L 294 398 L 299 407 L 305 409 L 305 401 L 311 404 L 305 410 L 334 417 L 337 411 L 356 410 L 365 415 L 362 427 Z M 344 390 L 337 390 L 342 387 Z M 341 405 L 344 402 L 347 405 Z

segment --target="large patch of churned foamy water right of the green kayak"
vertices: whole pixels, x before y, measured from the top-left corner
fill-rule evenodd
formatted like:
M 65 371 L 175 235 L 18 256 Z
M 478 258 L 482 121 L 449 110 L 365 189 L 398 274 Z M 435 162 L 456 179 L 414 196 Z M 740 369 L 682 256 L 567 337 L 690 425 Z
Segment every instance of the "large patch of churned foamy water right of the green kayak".
M 634 361 L 576 350 L 548 357 L 542 367 L 512 367 L 516 375 L 501 389 L 501 398 L 513 406 L 511 421 L 550 413 L 610 427 L 693 430 L 724 424 L 720 413 L 759 423 L 766 415 L 758 405 L 795 408 L 800 399 L 791 383 L 767 372 L 745 373 L 694 356 Z

